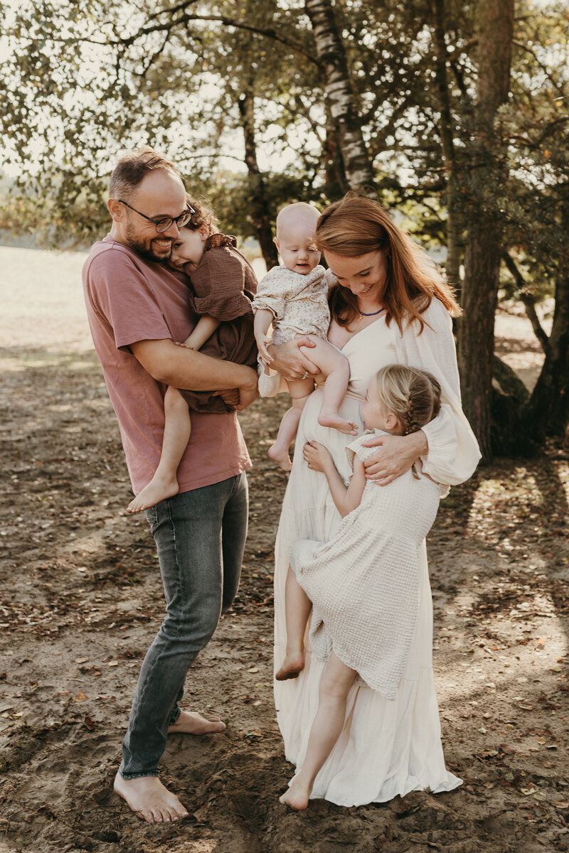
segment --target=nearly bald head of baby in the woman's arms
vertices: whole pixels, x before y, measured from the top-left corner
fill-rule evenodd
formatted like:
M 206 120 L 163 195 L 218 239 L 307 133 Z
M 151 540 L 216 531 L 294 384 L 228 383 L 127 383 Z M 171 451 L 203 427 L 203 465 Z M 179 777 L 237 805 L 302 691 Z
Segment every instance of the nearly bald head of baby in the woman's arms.
M 320 261 L 314 235 L 320 213 L 305 201 L 297 201 L 279 211 L 275 244 L 287 270 L 308 276 Z

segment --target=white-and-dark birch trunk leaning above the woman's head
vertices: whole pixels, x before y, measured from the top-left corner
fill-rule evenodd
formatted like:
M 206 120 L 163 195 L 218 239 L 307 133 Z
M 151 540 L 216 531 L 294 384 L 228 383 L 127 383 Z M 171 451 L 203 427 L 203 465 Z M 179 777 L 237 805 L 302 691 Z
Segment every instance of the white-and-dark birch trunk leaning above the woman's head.
M 357 99 L 351 88 L 344 43 L 334 19 L 330 0 L 305 0 L 311 20 L 316 54 L 322 64 L 323 85 L 337 131 L 350 189 L 362 188 L 375 196 L 374 170 L 362 134 Z

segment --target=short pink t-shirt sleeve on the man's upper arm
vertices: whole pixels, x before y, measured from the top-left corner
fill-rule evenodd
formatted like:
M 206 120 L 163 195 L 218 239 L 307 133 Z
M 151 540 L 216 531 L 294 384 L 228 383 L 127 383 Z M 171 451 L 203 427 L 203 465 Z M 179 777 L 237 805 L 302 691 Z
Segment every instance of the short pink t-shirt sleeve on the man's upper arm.
M 171 339 L 148 277 L 126 252 L 109 250 L 90 264 L 86 293 L 91 310 L 112 330 L 119 350 L 138 340 Z

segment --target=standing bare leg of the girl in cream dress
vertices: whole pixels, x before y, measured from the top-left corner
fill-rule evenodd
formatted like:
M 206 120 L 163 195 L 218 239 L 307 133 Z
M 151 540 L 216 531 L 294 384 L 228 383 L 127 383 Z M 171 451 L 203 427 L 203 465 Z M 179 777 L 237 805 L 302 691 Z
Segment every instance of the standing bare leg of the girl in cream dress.
M 334 652 L 322 673 L 318 710 L 312 723 L 306 757 L 291 786 L 279 798 L 281 803 L 302 811 L 308 807 L 318 771 L 334 749 L 345 722 L 345 705 L 356 670 L 342 664 Z

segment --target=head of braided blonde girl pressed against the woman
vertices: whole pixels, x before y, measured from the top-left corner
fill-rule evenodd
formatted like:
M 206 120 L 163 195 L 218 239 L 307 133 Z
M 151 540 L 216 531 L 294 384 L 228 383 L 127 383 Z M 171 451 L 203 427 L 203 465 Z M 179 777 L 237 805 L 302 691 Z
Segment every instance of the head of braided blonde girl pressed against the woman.
M 440 386 L 430 373 L 405 364 L 388 364 L 369 382 L 362 404 L 368 429 L 393 435 L 417 432 L 440 411 Z

